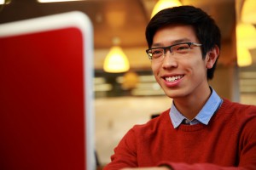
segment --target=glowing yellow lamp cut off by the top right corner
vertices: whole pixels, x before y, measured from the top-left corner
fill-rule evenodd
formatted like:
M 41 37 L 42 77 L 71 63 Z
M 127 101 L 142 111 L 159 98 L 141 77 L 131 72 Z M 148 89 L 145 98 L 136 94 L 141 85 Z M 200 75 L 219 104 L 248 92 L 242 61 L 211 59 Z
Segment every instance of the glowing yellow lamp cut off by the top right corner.
M 244 1 L 241 8 L 241 21 L 256 24 L 255 0 Z

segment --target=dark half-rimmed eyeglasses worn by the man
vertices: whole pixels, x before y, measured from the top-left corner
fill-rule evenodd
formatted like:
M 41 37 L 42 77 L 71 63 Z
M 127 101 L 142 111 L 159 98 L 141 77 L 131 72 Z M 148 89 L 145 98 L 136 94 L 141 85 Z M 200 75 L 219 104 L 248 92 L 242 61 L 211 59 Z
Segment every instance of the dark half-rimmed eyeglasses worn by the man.
M 189 49 L 191 46 L 200 47 L 200 43 L 196 42 L 182 42 L 182 43 L 176 43 L 168 47 L 160 47 L 160 48 L 149 48 L 146 50 L 146 53 L 148 54 L 148 58 L 150 60 L 161 60 L 164 59 L 164 56 L 166 54 L 166 49 L 170 50 L 170 53 L 172 55 L 176 55 L 177 58 L 189 54 Z

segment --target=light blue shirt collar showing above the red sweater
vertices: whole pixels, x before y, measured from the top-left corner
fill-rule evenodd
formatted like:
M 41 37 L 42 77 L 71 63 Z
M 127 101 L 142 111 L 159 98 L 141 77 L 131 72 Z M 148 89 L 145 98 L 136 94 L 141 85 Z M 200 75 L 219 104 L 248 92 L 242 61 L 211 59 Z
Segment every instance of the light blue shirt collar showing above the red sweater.
M 220 97 L 215 92 L 215 90 L 213 88 L 211 89 L 212 89 L 212 94 L 210 98 L 207 100 L 207 103 L 203 106 L 203 108 L 197 114 L 197 116 L 195 116 L 195 118 L 191 121 L 189 121 L 188 118 L 186 118 L 179 111 L 177 111 L 177 108 L 175 107 L 172 101 L 172 107 L 169 115 L 171 117 L 174 128 L 178 127 L 183 122 L 183 120 L 185 120 L 186 124 L 190 124 L 190 125 L 194 125 L 199 122 L 207 125 L 208 122 L 210 122 L 211 117 L 216 111 L 218 111 L 219 106 L 223 102 L 223 99 L 220 99 Z

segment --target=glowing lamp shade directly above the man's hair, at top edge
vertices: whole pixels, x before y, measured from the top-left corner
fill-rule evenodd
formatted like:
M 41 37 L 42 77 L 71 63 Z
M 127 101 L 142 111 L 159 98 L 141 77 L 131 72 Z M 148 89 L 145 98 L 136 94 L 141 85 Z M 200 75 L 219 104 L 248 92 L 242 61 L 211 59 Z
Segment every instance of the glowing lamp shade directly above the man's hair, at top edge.
M 182 3 L 179 2 L 179 0 L 159 0 L 155 5 L 153 12 L 151 14 L 151 18 L 154 16 L 154 14 L 158 13 L 160 10 L 164 8 L 172 8 L 181 6 Z

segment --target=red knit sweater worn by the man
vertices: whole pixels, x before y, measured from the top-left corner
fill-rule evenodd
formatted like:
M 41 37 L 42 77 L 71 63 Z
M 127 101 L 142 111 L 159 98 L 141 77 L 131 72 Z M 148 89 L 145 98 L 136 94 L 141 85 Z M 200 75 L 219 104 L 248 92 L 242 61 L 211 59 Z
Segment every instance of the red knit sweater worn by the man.
M 175 170 L 256 170 L 256 106 L 224 99 L 208 125 L 177 128 L 169 111 L 132 127 L 104 170 L 161 164 Z

